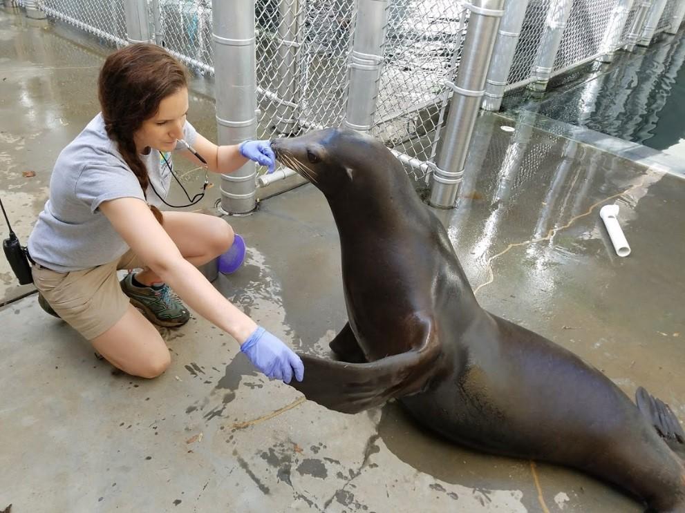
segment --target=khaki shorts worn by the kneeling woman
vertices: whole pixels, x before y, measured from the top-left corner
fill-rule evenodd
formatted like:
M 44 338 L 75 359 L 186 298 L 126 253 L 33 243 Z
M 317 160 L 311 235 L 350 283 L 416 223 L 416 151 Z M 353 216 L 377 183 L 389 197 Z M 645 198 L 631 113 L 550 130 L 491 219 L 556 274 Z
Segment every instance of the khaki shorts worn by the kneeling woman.
M 114 262 L 82 271 L 57 273 L 35 264 L 33 282 L 50 307 L 86 340 L 113 327 L 129 308 L 129 298 L 119 284 L 118 269 L 144 267 L 129 249 Z

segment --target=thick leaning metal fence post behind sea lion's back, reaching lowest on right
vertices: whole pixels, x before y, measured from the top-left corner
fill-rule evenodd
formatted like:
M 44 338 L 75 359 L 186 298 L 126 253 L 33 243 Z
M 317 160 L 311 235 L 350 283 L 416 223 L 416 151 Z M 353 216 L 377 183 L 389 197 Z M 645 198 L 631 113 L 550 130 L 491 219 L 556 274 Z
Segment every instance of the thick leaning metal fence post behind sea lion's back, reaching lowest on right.
M 487 69 L 495 46 L 504 0 L 480 0 L 467 4 L 471 10 L 469 28 L 462 49 L 456 84 L 447 81 L 453 90 L 442 136 L 442 146 L 431 175 L 429 204 L 451 209 L 456 201 L 459 183 L 464 174 L 473 126 L 485 94 Z

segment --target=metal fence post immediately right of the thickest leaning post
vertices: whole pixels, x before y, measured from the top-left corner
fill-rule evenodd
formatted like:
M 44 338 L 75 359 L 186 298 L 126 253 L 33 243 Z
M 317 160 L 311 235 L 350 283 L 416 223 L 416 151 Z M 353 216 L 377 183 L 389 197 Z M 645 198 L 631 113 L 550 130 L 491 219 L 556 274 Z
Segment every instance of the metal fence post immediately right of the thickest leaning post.
M 525 10 L 529 0 L 506 0 L 504 16 L 497 33 L 495 50 L 492 54 L 490 69 L 485 81 L 483 110 L 500 110 L 505 87 L 508 84 L 509 70 L 514 62 L 516 43 L 521 34 Z

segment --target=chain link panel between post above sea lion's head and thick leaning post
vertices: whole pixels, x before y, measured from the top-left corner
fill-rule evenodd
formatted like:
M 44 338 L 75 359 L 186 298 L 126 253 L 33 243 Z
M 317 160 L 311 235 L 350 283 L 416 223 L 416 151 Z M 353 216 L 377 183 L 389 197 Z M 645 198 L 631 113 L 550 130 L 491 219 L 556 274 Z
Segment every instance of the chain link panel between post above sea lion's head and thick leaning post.
M 451 0 L 393 1 L 371 134 L 404 155 L 433 162 L 448 88 L 459 66 L 466 10 Z M 405 164 L 416 180 L 426 171 Z

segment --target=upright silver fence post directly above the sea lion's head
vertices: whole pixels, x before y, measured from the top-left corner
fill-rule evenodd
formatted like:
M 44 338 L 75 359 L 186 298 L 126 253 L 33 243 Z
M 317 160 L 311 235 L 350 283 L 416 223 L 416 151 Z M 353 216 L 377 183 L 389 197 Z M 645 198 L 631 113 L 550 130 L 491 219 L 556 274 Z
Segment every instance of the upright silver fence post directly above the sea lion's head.
M 387 0 L 359 0 L 345 115 L 347 128 L 360 132 L 371 129 L 387 25 Z

